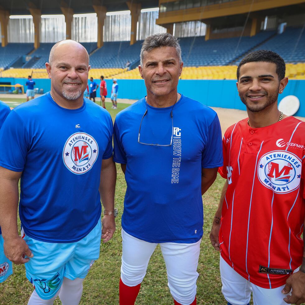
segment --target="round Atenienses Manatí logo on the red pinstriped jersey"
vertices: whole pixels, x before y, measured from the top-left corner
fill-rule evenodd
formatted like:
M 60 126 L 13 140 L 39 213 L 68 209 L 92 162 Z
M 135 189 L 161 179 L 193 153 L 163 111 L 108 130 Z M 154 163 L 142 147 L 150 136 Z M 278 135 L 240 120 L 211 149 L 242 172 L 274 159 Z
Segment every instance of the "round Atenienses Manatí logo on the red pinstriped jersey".
M 302 162 L 295 154 L 276 150 L 260 158 L 257 174 L 263 185 L 277 194 L 285 194 L 298 188 L 301 170 Z

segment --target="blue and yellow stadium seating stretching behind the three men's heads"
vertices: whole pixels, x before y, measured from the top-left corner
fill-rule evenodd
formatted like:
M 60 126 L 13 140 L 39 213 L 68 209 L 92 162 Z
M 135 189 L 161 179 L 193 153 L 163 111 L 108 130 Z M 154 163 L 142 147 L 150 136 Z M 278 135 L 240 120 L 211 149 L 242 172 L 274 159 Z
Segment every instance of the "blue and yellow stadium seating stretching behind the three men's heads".
M 301 28 L 287 28 L 282 34 L 275 31 L 260 32 L 253 37 L 223 38 L 205 41 L 204 37 L 181 38 L 184 69 L 181 79 L 236 79 L 236 68 L 240 59 L 256 49 L 271 49 L 286 61 L 286 75 L 290 79 L 305 79 L 305 34 Z M 303 33 L 303 34 L 302 34 Z M 302 35 L 301 35 L 302 34 Z M 90 54 L 89 77 L 140 79 L 138 68 L 127 71 L 127 61 L 137 63 L 141 44 L 137 41 L 105 42 L 96 49 L 96 43 L 83 43 Z M 8 69 L 2 77 L 47 78 L 45 62 L 49 59 L 53 43 L 42 43 L 31 55 L 33 59 L 24 65 L 26 69 Z M 28 54 L 32 44 L 8 44 L 0 47 L 0 67 L 9 67 L 20 56 Z M 297 64 L 294 64 L 297 63 Z M 2 70 L 3 70 L 2 68 Z M 1 70 L 0 70 L 1 71 Z

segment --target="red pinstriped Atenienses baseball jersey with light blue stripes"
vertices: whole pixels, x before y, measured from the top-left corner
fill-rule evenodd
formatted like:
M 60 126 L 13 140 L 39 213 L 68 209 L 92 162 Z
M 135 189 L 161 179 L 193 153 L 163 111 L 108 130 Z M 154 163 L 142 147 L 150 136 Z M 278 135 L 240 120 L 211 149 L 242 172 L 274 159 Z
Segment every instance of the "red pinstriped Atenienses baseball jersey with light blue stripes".
M 228 179 L 219 231 L 220 253 L 251 283 L 285 284 L 302 264 L 305 122 L 285 118 L 263 128 L 247 119 L 223 137 Z

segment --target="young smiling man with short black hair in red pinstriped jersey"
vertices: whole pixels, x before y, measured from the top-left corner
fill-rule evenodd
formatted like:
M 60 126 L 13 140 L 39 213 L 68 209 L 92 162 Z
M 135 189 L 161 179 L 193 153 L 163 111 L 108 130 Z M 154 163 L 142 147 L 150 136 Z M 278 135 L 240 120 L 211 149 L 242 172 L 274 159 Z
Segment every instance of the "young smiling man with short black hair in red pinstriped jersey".
M 252 52 L 237 68 L 249 118 L 223 137 L 227 181 L 210 233 L 228 304 L 248 304 L 251 291 L 255 305 L 305 301 L 305 123 L 277 108 L 287 83 L 272 51 Z

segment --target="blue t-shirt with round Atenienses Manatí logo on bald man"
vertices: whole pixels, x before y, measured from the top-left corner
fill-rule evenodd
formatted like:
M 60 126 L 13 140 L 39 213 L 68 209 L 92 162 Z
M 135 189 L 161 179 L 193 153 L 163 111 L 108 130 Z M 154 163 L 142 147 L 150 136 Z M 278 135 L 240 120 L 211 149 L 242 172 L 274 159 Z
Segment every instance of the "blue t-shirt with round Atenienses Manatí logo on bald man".
M 48 92 L 10 112 L 0 131 L 0 166 L 22 171 L 19 215 L 28 236 L 76 242 L 95 227 L 112 131 L 110 114 L 88 99 L 70 110 Z

